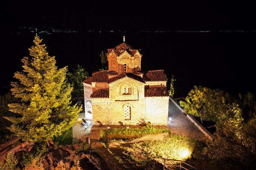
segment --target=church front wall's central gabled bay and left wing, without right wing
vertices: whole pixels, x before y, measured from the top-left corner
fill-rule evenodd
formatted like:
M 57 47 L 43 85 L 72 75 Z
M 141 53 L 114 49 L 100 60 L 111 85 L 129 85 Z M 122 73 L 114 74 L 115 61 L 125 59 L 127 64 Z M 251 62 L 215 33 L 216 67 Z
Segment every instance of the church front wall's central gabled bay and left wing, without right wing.
M 131 87 L 130 95 L 123 95 L 122 86 L 128 84 Z M 145 115 L 144 83 L 137 82 L 125 77 L 109 84 L 109 99 L 92 99 L 93 119 L 101 121 L 103 124 L 137 124 L 141 117 Z M 125 120 L 125 106 L 130 106 L 131 119 Z

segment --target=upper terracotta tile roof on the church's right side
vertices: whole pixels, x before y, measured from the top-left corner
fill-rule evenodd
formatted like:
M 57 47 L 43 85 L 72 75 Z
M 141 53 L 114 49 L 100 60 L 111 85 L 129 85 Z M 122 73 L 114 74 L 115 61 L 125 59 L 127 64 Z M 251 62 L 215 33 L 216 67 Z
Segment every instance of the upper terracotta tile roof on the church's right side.
M 164 70 L 151 70 L 151 71 L 140 71 L 143 74 L 143 80 L 145 82 L 158 82 L 166 81 Z

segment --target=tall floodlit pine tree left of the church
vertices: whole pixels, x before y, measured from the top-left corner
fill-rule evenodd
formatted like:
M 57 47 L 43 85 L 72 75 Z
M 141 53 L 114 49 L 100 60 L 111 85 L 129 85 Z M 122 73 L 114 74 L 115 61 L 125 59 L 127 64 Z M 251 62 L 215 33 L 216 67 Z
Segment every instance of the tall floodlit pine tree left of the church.
M 45 44 L 36 34 L 31 57 L 24 57 L 23 71 L 16 72 L 11 92 L 18 102 L 9 104 L 17 117 L 6 117 L 12 122 L 11 132 L 23 141 L 47 141 L 69 129 L 81 108 L 71 106 L 72 87 L 66 82 L 67 66 L 57 68 L 55 57 L 48 55 Z

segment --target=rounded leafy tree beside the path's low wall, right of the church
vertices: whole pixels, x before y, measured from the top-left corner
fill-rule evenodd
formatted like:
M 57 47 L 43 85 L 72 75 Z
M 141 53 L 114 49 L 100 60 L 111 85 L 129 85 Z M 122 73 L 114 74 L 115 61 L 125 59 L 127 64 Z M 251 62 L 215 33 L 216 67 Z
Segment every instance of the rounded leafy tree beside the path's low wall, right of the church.
M 207 121 L 218 122 L 241 112 L 228 93 L 202 86 L 194 86 L 185 100 L 186 102 L 180 101 L 180 105 L 186 113 Z

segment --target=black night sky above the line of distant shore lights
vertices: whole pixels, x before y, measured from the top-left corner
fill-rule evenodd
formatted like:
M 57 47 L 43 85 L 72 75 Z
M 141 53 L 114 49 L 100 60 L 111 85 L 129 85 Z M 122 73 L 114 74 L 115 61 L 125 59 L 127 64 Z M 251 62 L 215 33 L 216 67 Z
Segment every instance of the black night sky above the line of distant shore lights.
M 6 1 L 3 26 L 125 31 L 255 30 L 253 0 Z

